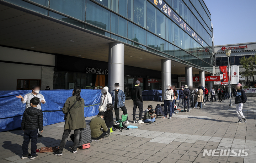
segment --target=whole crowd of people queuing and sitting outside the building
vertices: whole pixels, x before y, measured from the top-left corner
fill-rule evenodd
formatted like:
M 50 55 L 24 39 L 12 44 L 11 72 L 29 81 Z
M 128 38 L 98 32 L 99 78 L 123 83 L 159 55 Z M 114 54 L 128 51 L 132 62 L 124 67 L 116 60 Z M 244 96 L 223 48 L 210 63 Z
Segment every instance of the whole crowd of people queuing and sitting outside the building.
M 144 117 L 142 120 L 143 114 L 143 98 L 142 90 L 140 88 L 140 81 L 135 81 L 135 86 L 131 91 L 131 98 L 133 100 L 133 122 L 134 123 L 154 123 L 158 116 L 161 118 L 167 118 L 169 114 L 169 119 L 172 118 L 173 114 L 178 113 L 180 110 L 178 107 L 183 109 L 190 109 L 190 105 L 193 108 L 199 106 L 202 109 L 202 104 L 208 101 L 208 94 L 210 94 L 210 100 L 213 102 L 215 99 L 215 94 L 218 92 L 218 98 L 229 98 L 227 95 L 227 87 L 219 88 L 217 91 L 212 89 L 208 91 L 207 87 L 203 87 L 202 84 L 199 84 L 197 88 L 193 86 L 181 86 L 179 93 L 176 90 L 175 85 L 168 85 L 168 88 L 164 91 L 164 104 L 158 104 L 153 109 L 152 105 L 148 105 L 148 108 L 144 112 Z M 62 108 L 62 112 L 65 114 L 64 120 L 64 132 L 62 135 L 62 140 L 60 142 L 59 148 L 54 152 L 57 156 L 62 156 L 63 149 L 68 140 L 71 130 L 74 130 L 74 134 L 70 136 L 71 140 L 74 142 L 74 145 L 71 149 L 71 152 L 76 153 L 77 148 L 82 147 L 83 144 L 90 143 L 93 141 L 98 141 L 104 139 L 110 135 L 112 127 L 114 127 L 114 118 L 113 118 L 113 109 L 116 116 L 116 125 L 121 123 L 119 117 L 119 109 L 122 110 L 124 115 L 127 115 L 127 108 L 125 106 L 126 96 L 124 92 L 119 89 L 119 83 L 114 84 L 115 89 L 111 92 L 108 91 L 108 87 L 104 87 L 101 90 L 101 99 L 99 106 L 99 113 L 96 117 L 92 118 L 89 124 L 86 124 L 84 118 L 84 99 L 81 98 L 80 93 L 81 89 L 75 87 L 72 96 L 69 97 Z M 16 97 L 21 99 L 22 103 L 26 103 L 26 109 L 23 113 L 21 128 L 24 131 L 23 136 L 23 145 L 22 145 L 22 159 L 30 157 L 34 159 L 38 157 L 36 154 L 37 150 L 37 137 L 39 137 L 39 131 L 43 133 L 43 113 L 41 109 L 41 104 L 46 103 L 42 94 L 39 94 L 40 87 L 33 86 L 32 92 L 26 94 L 24 97 L 18 95 Z M 225 90 L 225 92 L 224 92 Z M 224 95 L 222 97 L 221 95 Z M 176 100 L 180 97 L 178 106 L 176 106 Z M 234 88 L 233 96 L 235 96 L 236 104 L 236 113 L 238 115 L 238 122 L 242 123 L 242 120 L 246 123 L 242 113 L 243 103 L 246 102 L 245 91 L 242 90 L 242 85 L 238 84 Z M 216 101 L 216 100 L 215 100 Z M 139 117 L 138 121 L 136 120 L 136 110 L 139 108 Z M 127 116 L 127 124 L 128 116 Z M 118 123 L 117 123 L 118 122 Z M 83 135 L 88 135 L 83 136 Z M 31 142 L 31 153 L 28 152 L 28 145 Z

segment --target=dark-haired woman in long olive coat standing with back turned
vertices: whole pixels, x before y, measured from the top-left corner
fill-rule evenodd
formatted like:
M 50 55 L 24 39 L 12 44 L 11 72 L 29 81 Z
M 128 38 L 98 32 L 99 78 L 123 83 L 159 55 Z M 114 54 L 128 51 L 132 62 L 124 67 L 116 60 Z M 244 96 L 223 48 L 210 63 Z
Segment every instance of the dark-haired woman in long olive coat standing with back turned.
M 62 108 L 65 114 L 65 125 L 62 140 L 59 149 L 54 152 L 57 156 L 62 156 L 62 151 L 66 145 L 71 130 L 74 130 L 74 145 L 71 149 L 72 153 L 76 153 L 79 143 L 80 130 L 86 128 L 84 118 L 84 99 L 80 96 L 81 88 L 75 87 L 72 96 L 69 97 Z

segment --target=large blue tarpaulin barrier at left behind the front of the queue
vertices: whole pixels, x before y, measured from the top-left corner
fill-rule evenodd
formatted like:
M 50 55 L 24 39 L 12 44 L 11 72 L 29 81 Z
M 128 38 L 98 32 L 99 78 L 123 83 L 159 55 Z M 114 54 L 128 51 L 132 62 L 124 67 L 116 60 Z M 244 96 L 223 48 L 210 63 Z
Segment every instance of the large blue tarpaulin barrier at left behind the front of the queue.
M 62 107 L 72 96 L 73 90 L 41 90 L 39 93 L 45 98 L 46 103 L 42 104 L 43 124 L 50 125 L 64 122 Z M 22 115 L 25 111 L 25 103 L 16 96 L 25 96 L 31 93 L 30 90 L 0 91 L 0 132 L 14 130 L 21 127 Z M 85 101 L 84 116 L 91 117 L 98 114 L 101 90 L 81 90 L 81 97 Z

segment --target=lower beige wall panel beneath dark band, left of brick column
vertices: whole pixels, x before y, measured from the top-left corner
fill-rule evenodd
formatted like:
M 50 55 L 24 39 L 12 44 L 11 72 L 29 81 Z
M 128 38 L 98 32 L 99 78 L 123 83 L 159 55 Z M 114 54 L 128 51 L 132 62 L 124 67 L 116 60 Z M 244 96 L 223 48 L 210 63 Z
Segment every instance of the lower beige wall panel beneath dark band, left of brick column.
M 42 66 L 0 62 L 0 90 L 16 90 L 17 79 L 41 79 Z

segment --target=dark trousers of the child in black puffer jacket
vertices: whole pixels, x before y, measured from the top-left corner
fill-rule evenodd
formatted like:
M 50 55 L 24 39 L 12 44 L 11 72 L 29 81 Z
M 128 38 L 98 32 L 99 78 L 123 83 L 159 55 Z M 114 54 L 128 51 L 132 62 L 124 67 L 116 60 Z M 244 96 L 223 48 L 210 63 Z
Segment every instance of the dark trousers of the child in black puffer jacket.
M 28 154 L 28 144 L 31 142 L 31 156 L 36 156 L 38 129 L 25 130 L 23 135 L 22 155 Z

